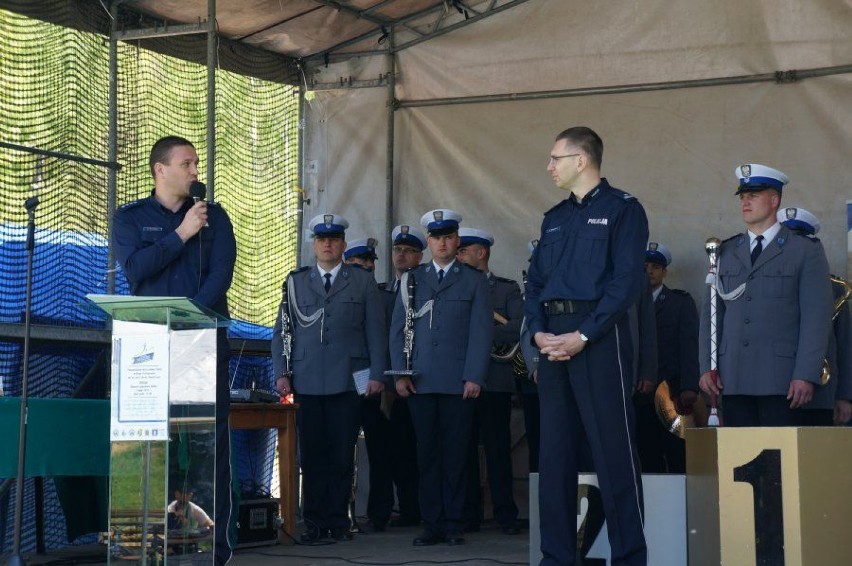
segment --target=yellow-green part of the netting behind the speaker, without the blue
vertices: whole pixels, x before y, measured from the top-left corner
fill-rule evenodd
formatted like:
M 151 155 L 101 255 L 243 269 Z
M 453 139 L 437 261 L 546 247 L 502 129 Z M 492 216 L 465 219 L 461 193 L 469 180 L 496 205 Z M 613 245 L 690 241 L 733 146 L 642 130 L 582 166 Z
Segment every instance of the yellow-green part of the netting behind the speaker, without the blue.
M 207 69 L 120 43 L 118 70 L 117 203 L 150 192 L 148 153 L 163 135 L 195 143 L 209 183 Z M 106 160 L 108 82 L 103 37 L 0 11 L 0 141 Z M 215 196 L 238 249 L 232 316 L 271 325 L 296 264 L 297 89 L 219 71 L 216 96 Z M 0 167 L 4 223 L 23 225 L 37 191 L 39 228 L 106 236 L 106 168 L 4 148 Z

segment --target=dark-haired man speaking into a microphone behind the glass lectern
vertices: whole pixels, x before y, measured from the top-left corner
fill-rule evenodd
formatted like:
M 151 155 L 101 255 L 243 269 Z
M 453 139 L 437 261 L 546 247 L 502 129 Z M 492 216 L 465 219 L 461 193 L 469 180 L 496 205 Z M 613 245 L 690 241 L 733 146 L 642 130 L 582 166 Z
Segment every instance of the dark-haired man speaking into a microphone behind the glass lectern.
M 203 185 L 198 186 L 195 147 L 177 136 L 161 138 L 151 149 L 149 165 L 154 178 L 151 195 L 119 207 L 113 217 L 115 257 L 131 292 L 187 297 L 229 316 L 226 295 L 237 258 L 234 227 L 222 207 L 198 198 L 204 190 Z M 231 556 L 227 542 L 231 474 L 225 328 L 218 329 L 216 350 L 215 563 L 224 564 Z

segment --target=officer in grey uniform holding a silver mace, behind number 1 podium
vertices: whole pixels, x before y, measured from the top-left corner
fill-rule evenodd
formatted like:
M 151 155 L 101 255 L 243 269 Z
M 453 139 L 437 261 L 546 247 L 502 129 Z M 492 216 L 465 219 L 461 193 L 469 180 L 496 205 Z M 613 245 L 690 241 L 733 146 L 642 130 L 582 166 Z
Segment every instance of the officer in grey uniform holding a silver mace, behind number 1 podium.
M 729 426 L 796 426 L 820 382 L 831 330 L 831 284 L 822 244 L 778 223 L 787 176 L 740 165 L 736 194 L 748 231 L 719 249 L 718 379 L 710 372 L 710 301 L 701 315 L 699 385 L 723 395 Z

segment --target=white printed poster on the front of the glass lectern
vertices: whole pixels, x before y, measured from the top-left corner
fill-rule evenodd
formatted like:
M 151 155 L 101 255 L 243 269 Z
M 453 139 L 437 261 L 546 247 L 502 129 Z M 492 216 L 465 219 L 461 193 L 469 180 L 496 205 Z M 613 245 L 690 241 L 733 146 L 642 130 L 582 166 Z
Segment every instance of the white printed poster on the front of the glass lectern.
M 167 440 L 169 336 L 158 325 L 124 324 L 145 332 L 113 336 L 110 441 Z

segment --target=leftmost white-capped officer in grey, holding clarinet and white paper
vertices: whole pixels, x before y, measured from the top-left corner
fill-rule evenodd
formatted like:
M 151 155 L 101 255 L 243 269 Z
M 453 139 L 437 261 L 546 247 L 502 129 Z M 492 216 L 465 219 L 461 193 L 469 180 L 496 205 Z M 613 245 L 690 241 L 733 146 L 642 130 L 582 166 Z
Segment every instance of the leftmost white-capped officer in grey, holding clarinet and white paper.
M 287 278 L 287 306 L 293 329 L 290 370 L 285 375 L 282 314 L 272 337 L 276 389 L 295 394 L 303 477 L 301 539 L 331 536 L 350 540 L 348 505 L 361 403 L 355 375 L 366 378 L 367 396 L 384 389 L 387 327 L 373 275 L 342 262 L 348 221 L 320 214 L 310 222 L 317 263 Z M 366 374 L 366 376 L 365 376 Z

